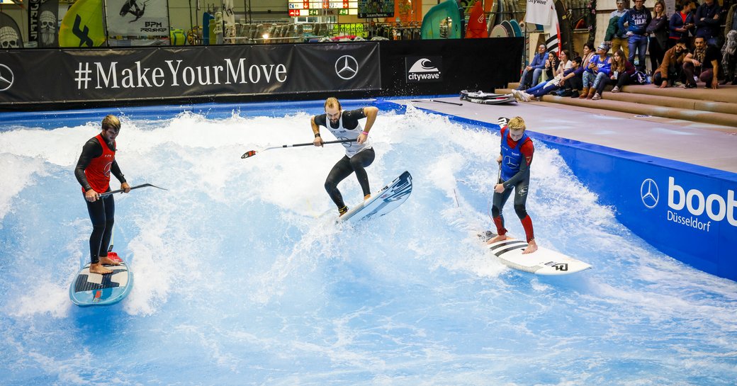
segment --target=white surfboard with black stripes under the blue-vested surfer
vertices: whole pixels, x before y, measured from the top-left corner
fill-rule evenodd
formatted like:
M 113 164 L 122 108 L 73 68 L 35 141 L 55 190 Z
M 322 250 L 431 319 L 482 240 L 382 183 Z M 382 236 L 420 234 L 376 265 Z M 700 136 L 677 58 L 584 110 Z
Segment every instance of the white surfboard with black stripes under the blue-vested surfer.
M 492 231 L 486 231 L 478 236 L 486 242 L 496 235 Z M 527 242 L 520 239 L 507 238 L 487 247 L 507 267 L 535 275 L 569 275 L 591 268 L 590 264 L 581 260 L 539 246 L 535 252 L 523 255 L 522 251 L 527 248 Z

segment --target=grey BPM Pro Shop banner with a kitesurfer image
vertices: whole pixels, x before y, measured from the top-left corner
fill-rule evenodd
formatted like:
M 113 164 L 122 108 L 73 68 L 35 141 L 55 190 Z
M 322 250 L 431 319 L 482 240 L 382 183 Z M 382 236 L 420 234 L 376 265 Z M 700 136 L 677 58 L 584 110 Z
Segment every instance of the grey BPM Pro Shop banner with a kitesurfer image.
M 167 0 L 105 0 L 110 36 L 169 36 Z

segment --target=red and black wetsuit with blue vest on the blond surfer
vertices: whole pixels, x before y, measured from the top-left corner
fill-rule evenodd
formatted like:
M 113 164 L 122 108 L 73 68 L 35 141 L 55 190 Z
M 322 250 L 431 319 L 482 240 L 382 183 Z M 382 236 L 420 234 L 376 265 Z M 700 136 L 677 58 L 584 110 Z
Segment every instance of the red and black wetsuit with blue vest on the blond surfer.
M 514 211 L 517 213 L 517 217 L 520 217 L 523 228 L 525 228 L 527 242 L 530 242 L 535 238 L 535 235 L 525 202 L 527 201 L 527 191 L 530 185 L 530 164 L 532 164 L 535 147 L 532 144 L 532 139 L 526 133 L 523 134 L 520 141 L 512 141 L 506 126 L 502 127 L 501 137 L 502 165 L 500 167 L 502 170 L 497 183 L 504 185 L 504 192 L 494 192 L 492 218 L 497 226 L 497 234 L 506 234 L 502 208 L 509 199 L 512 188 L 514 188 L 514 192 L 516 192 L 514 194 Z

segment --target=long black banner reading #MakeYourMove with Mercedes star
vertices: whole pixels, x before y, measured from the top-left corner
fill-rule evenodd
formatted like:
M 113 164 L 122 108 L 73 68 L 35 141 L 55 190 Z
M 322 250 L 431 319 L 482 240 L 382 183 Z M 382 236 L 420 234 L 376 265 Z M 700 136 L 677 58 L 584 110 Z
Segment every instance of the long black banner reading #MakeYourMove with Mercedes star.
M 377 43 L 18 50 L 0 105 L 377 90 Z

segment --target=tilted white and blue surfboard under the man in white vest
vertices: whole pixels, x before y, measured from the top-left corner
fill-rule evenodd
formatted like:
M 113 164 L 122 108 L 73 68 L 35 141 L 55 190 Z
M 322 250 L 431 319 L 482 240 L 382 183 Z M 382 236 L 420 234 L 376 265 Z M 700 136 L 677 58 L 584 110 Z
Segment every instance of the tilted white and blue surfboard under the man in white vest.
M 356 222 L 381 217 L 402 205 L 410 197 L 411 192 L 412 175 L 410 172 L 403 172 L 379 192 L 371 194 L 371 198 L 338 217 L 338 222 Z

